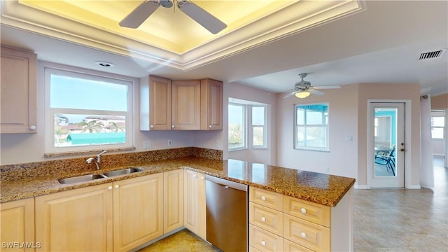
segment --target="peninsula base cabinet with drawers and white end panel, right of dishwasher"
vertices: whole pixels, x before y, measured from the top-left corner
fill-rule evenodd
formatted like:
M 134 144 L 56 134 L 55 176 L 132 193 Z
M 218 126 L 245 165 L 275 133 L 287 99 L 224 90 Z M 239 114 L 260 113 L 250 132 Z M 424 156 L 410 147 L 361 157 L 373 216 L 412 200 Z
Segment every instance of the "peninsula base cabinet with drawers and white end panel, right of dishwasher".
M 249 250 L 353 251 L 350 197 L 328 207 L 249 188 Z

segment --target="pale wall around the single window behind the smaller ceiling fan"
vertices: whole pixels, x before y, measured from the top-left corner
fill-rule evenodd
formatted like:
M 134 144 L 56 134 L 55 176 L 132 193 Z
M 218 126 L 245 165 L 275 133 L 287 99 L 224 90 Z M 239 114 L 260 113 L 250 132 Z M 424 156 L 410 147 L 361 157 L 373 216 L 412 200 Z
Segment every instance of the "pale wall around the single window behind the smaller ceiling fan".
M 277 165 L 311 172 L 356 178 L 358 169 L 358 88 L 344 85 L 337 90 L 324 90 L 325 94 L 306 99 L 295 96 L 283 99 L 277 94 Z M 295 104 L 328 102 L 329 152 L 304 151 L 293 148 Z M 351 137 L 351 141 L 347 141 Z

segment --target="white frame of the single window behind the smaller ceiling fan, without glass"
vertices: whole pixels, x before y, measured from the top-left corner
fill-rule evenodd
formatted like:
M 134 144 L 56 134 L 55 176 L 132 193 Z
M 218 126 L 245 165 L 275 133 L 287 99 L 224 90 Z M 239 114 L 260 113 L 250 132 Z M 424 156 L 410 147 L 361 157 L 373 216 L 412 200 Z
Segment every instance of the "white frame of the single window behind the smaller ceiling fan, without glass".
M 297 125 L 297 109 L 299 108 L 299 106 L 313 106 L 313 105 L 325 105 L 327 106 L 327 116 L 326 116 L 326 125 L 325 125 L 325 143 L 326 146 L 325 147 L 313 147 L 313 146 L 297 146 L 297 127 L 299 127 L 299 125 Z M 304 115 L 306 115 L 306 110 L 304 111 Z M 301 151 L 323 151 L 323 152 L 330 152 L 330 103 L 329 102 L 319 102 L 319 103 L 314 103 L 314 104 L 294 104 L 294 138 L 293 138 L 293 148 L 295 150 L 301 150 Z M 325 116 L 323 117 L 323 122 L 325 122 Z M 306 122 L 306 116 L 304 118 L 304 127 L 306 128 L 307 126 L 314 126 L 314 127 L 318 127 L 321 125 L 307 125 Z

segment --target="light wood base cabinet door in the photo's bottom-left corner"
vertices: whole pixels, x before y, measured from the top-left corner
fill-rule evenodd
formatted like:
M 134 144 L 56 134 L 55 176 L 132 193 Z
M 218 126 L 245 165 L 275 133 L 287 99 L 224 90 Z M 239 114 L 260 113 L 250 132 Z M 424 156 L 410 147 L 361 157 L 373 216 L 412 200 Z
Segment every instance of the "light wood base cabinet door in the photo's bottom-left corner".
M 2 203 L 0 209 L 1 251 L 34 251 L 41 246 L 34 241 L 34 198 Z M 18 248 L 15 242 L 30 246 Z

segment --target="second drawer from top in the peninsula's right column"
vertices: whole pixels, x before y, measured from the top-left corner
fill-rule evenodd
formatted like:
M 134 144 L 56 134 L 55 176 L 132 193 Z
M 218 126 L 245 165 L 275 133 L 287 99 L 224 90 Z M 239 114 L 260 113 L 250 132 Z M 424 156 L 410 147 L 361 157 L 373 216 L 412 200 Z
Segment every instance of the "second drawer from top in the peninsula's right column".
M 304 221 L 300 218 L 283 215 L 284 238 L 310 248 L 313 251 L 330 251 L 330 229 Z

